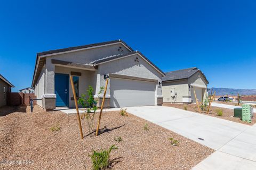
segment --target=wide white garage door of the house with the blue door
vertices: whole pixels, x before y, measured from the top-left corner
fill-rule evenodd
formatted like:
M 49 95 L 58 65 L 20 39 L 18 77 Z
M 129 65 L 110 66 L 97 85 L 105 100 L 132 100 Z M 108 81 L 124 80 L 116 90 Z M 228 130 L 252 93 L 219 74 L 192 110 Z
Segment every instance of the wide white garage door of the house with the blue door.
M 156 101 L 156 82 L 110 78 L 110 106 L 151 106 Z

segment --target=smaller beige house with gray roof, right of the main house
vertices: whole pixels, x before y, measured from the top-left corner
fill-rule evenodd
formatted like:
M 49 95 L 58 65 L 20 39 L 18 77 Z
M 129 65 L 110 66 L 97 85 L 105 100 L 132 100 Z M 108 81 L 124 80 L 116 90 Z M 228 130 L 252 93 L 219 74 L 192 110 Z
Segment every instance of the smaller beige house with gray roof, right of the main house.
M 163 102 L 196 103 L 207 95 L 209 84 L 203 72 L 197 67 L 165 73 L 163 78 Z M 196 97 L 194 95 L 196 93 Z

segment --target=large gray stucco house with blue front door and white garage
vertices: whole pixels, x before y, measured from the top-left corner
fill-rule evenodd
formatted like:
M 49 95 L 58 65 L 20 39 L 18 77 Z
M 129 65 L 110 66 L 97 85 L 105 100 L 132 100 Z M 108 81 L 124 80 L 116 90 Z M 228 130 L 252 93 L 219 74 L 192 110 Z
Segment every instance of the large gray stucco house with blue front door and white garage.
M 86 94 L 89 85 L 97 97 L 109 76 L 105 107 L 161 105 L 163 102 L 164 72 L 122 40 L 38 53 L 32 82 L 35 95 L 42 97 L 37 104 L 46 110 L 74 107 L 69 75 L 73 76 L 77 97 Z

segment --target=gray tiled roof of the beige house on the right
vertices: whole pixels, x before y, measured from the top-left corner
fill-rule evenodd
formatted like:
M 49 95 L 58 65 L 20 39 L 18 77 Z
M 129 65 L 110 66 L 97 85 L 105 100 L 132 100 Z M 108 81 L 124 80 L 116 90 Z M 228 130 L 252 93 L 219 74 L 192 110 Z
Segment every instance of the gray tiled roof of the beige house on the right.
M 188 69 L 182 69 L 182 70 L 167 72 L 167 73 L 165 73 L 166 76 L 162 79 L 162 81 L 164 82 L 164 81 L 174 81 L 174 80 L 188 79 L 197 72 L 202 73 L 203 77 L 205 78 L 205 80 L 208 84 L 209 81 L 206 79 L 204 73 L 201 70 L 197 69 L 197 67 L 191 67 L 191 68 L 188 68 Z

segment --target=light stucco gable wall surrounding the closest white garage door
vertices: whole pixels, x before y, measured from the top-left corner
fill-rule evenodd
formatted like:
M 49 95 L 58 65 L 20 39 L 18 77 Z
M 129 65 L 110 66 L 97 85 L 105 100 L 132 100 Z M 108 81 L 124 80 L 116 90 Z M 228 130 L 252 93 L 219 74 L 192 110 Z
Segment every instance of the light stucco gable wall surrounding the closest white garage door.
M 135 62 L 135 58 L 139 58 L 139 63 Z M 133 77 L 156 79 L 162 81 L 162 75 L 153 66 L 149 65 L 143 58 L 138 54 L 125 57 L 119 60 L 111 61 L 108 63 L 103 63 L 98 66 L 98 73 L 100 74 L 100 86 L 105 86 L 106 80 L 104 79 L 104 74 L 115 73 L 121 75 L 130 75 Z M 111 84 L 111 79 L 110 82 Z M 157 96 L 162 95 L 162 86 L 158 88 L 156 85 Z M 110 94 L 110 88 L 107 88 L 107 95 Z

